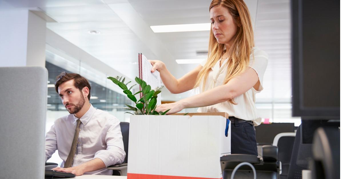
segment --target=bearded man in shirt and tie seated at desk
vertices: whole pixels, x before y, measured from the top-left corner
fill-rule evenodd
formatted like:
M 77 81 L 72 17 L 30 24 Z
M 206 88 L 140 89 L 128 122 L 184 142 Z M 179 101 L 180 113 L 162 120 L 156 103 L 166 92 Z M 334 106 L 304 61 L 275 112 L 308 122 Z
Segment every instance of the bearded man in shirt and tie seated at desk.
M 91 86 L 84 77 L 62 72 L 56 79 L 56 92 L 70 114 L 57 119 L 46 134 L 45 161 L 58 150 L 63 168 L 53 170 L 112 175 L 106 167 L 125 158 L 119 120 L 90 104 Z

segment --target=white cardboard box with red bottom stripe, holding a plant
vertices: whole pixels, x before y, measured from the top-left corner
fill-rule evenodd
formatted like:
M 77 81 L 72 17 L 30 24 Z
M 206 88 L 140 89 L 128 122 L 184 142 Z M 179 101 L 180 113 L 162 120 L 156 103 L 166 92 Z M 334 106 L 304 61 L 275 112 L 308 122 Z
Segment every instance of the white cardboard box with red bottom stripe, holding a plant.
M 131 116 L 128 179 L 222 178 L 220 156 L 231 153 L 231 124 L 217 114 L 189 115 Z

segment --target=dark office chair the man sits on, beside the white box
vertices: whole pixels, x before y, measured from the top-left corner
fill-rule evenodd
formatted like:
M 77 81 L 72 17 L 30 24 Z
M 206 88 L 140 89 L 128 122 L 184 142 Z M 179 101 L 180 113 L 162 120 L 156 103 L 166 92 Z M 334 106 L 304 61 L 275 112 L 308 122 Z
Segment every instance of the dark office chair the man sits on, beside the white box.
M 121 164 L 115 164 L 108 166 L 107 169 L 114 170 L 113 175 L 127 176 L 128 168 L 128 148 L 129 148 L 129 127 L 130 123 L 120 122 L 121 135 L 123 136 L 124 151 L 126 153 L 124 162 Z

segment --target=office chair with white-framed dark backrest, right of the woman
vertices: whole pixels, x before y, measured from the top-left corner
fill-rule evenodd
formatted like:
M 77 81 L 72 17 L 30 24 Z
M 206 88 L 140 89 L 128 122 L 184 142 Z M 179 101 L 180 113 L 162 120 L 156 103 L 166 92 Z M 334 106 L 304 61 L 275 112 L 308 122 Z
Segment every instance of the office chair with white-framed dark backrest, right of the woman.
M 283 132 L 275 136 L 273 145 L 277 146 L 277 158 L 280 161 L 280 179 L 287 179 L 289 162 L 291 161 L 295 132 Z

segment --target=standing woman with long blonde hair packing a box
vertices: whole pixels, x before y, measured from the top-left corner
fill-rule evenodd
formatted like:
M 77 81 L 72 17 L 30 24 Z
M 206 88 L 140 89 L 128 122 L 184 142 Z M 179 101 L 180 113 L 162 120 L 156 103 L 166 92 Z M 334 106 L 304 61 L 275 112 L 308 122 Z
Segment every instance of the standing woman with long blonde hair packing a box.
M 255 94 L 263 89 L 268 55 L 254 47 L 248 8 L 243 0 L 213 0 L 210 4 L 208 59 L 180 79 L 165 64 L 150 60 L 171 93 L 199 87 L 200 94 L 168 104 L 156 111 L 199 107 L 198 112 L 226 112 L 231 121 L 231 153 L 257 154 L 255 129 L 261 123 L 256 114 Z

